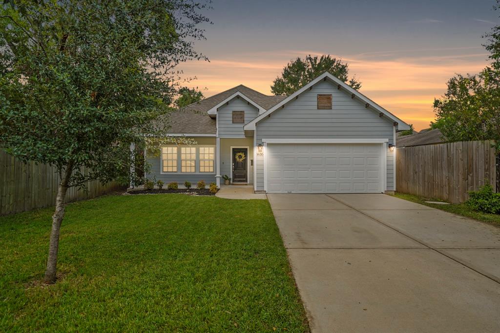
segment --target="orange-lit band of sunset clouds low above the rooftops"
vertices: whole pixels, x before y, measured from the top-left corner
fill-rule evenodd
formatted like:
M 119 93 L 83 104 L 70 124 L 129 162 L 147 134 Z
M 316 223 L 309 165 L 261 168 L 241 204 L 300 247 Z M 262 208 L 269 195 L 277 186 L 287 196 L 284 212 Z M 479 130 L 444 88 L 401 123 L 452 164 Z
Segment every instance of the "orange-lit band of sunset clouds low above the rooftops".
M 477 49 L 473 53 L 460 50 Z M 431 55 L 407 55 L 411 51 L 373 52 L 343 57 L 349 63 L 351 75 L 361 82 L 361 92 L 398 117 L 413 123 L 417 130 L 428 127 L 434 118 L 432 102 L 446 90 L 446 81 L 455 73 L 476 73 L 486 66 L 486 53 L 479 47 L 464 47 Z M 210 96 L 238 84 L 245 84 L 262 93 L 270 94 L 270 84 L 282 67 L 296 56 L 318 54 L 304 50 L 285 50 L 274 53 L 255 52 L 235 58 L 212 58 L 210 62 L 191 61 L 180 67 L 187 76 L 197 79 L 189 86 L 206 87 Z M 376 53 L 376 54 L 375 54 Z M 421 53 L 421 52 L 420 52 Z M 436 53 L 436 54 L 432 54 Z M 454 54 L 453 54 L 454 53 Z M 321 53 L 319 53 L 321 54 Z M 399 56 L 398 56 L 399 55 Z M 337 56 L 338 57 L 338 56 Z

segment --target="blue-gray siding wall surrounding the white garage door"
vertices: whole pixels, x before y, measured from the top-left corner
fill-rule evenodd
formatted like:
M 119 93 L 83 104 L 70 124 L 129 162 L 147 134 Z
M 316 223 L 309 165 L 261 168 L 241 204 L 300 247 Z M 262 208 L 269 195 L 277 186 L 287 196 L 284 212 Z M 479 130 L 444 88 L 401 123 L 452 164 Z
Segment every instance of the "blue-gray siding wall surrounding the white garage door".
M 318 93 L 331 93 L 332 109 L 317 109 Z M 256 145 L 262 138 L 387 138 L 394 142 L 394 126 L 387 117 L 365 108 L 364 103 L 338 90 L 336 84 L 321 81 L 259 121 Z M 267 152 L 264 151 L 264 155 Z M 264 189 L 264 157 L 257 156 L 256 190 Z M 394 152 L 387 149 L 387 190 L 394 190 Z

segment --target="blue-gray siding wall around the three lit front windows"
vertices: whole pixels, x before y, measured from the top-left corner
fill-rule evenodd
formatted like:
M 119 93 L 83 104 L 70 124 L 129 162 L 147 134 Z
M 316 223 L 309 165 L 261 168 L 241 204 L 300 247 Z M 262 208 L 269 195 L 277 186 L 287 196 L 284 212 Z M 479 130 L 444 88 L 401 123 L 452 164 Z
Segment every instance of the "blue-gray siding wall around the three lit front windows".
M 213 144 L 215 145 L 215 137 L 193 137 L 196 140 L 197 144 Z M 183 185 L 184 181 L 188 180 L 191 182 L 192 187 L 196 186 L 196 182 L 199 180 L 204 180 L 208 185 L 210 182 L 215 182 L 215 167 L 213 173 L 203 172 L 203 173 L 167 173 L 161 174 L 160 166 L 161 166 L 161 155 L 160 153 L 152 154 L 150 152 L 146 152 L 146 160 L 149 164 L 151 164 L 151 170 L 149 173 L 145 174 L 147 178 L 156 177 L 156 180 L 162 180 L 166 184 L 169 182 L 175 181 L 179 183 L 179 185 Z M 215 158 L 215 163 L 217 163 L 217 159 Z M 197 165 L 196 165 L 197 167 Z

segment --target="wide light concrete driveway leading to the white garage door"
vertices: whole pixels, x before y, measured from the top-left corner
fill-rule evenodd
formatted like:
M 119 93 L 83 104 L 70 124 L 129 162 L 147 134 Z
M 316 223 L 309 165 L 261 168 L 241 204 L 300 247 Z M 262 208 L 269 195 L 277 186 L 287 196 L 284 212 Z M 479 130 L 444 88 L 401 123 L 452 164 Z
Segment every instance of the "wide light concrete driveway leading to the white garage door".
M 500 331 L 500 228 L 385 194 L 268 194 L 313 332 Z

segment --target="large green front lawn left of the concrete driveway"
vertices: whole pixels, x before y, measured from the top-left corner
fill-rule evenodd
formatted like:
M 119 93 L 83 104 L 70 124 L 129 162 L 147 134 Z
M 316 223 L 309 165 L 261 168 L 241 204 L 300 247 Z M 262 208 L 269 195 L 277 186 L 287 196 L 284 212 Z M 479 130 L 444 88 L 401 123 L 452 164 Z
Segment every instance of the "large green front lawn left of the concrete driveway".
M 0 331 L 308 331 L 267 200 L 116 195 L 0 217 Z

